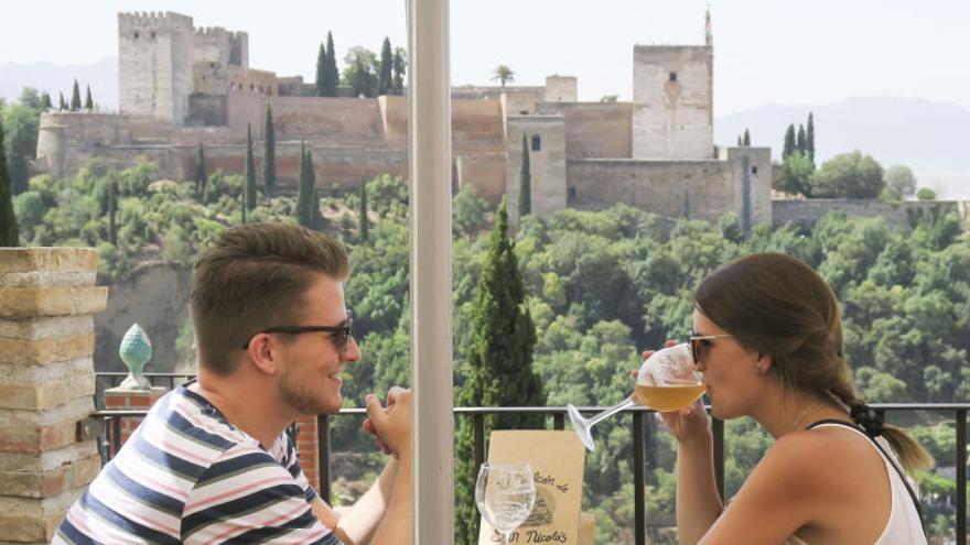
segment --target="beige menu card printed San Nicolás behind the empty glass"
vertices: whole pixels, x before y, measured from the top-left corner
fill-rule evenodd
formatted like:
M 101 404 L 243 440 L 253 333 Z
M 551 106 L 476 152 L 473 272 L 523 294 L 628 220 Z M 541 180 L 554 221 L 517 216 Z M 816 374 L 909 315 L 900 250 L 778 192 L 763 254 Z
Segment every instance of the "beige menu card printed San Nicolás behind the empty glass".
M 580 544 L 585 456 L 583 444 L 572 430 L 492 432 L 488 461 L 528 461 L 536 481 L 532 513 L 513 531 L 508 543 Z M 502 543 L 502 536 L 482 519 L 478 545 L 496 543 Z

